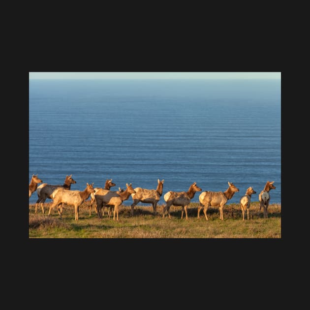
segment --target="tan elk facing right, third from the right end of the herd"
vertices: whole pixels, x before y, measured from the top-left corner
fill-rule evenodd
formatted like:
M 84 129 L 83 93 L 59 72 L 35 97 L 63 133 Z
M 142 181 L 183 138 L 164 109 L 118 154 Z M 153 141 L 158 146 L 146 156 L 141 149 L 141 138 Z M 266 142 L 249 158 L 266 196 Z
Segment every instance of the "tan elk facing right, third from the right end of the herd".
M 203 208 L 203 213 L 205 214 L 206 220 L 207 217 L 207 210 L 210 206 L 212 207 L 219 207 L 219 219 L 224 220 L 223 218 L 223 208 L 226 204 L 228 199 L 231 199 L 235 192 L 239 191 L 239 189 L 234 186 L 232 183 L 228 182 L 229 187 L 225 191 L 208 191 L 205 190 L 199 195 L 199 202 L 200 205 L 198 207 L 198 215 L 201 209 Z

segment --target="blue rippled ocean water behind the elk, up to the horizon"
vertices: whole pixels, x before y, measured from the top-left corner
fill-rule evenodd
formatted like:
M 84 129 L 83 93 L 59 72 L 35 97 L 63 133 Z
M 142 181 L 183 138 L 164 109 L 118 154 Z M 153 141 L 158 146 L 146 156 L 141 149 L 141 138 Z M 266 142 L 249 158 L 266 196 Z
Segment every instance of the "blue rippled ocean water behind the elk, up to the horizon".
M 280 203 L 280 80 L 30 79 L 29 182 L 32 174 L 53 185 L 72 174 L 78 190 L 111 178 L 113 190 L 155 189 L 164 179 L 163 194 L 230 182 L 240 191 L 228 204 L 249 186 L 258 201 L 275 181 L 271 203 Z

